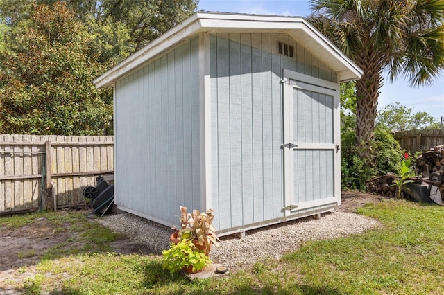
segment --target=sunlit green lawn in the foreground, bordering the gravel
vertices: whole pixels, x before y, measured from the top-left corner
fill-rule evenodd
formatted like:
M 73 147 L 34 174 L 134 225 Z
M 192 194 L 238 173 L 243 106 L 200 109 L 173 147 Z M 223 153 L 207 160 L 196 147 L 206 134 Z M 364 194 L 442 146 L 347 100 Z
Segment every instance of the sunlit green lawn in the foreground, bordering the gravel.
M 157 257 L 121 256 L 103 248 L 103 252 L 42 261 L 24 291 L 26 294 L 444 294 L 444 207 L 391 200 L 367 205 L 358 213 L 376 218 L 383 226 L 347 238 L 307 242 L 281 260 L 260 260 L 250 269 L 221 278 L 189 280 L 181 274 L 171 276 L 162 269 Z M 95 242 L 98 241 L 92 244 Z M 49 272 L 51 276 L 47 275 Z

